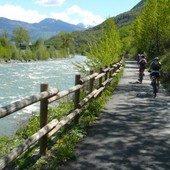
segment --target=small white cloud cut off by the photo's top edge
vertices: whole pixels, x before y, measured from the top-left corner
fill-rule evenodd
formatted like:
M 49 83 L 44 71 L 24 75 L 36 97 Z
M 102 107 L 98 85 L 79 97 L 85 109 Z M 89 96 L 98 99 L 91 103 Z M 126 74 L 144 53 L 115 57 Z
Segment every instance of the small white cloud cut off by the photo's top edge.
M 37 0 L 36 3 L 43 6 L 61 6 L 65 0 Z

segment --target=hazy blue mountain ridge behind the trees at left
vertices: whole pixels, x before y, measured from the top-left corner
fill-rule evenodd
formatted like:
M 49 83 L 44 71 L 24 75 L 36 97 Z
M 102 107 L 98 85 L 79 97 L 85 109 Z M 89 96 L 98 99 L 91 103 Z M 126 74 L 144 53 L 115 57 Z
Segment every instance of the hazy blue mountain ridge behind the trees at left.
M 10 20 L 0 17 L 0 35 L 2 35 L 4 31 L 7 31 L 9 37 L 11 37 L 12 31 L 18 26 L 25 28 L 30 34 L 32 40 L 36 40 L 38 38 L 48 39 L 60 32 L 85 30 L 83 25 L 73 25 L 61 20 L 51 18 L 46 18 L 39 23 L 30 24 L 27 22 Z

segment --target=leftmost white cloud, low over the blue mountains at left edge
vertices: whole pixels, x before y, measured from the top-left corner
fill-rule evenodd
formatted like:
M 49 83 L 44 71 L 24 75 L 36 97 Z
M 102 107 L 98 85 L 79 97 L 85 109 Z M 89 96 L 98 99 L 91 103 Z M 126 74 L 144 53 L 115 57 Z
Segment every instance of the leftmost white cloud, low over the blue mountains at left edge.
M 20 6 L 3 5 L 0 6 L 0 16 L 12 20 L 35 23 L 47 18 L 48 16 L 39 14 L 35 10 L 25 10 Z

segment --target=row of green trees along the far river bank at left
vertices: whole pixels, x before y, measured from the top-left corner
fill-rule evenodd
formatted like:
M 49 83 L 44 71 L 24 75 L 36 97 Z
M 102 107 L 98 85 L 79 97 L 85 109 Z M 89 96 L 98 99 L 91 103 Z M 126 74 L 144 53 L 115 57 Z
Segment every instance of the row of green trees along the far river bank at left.
M 0 61 L 47 60 L 74 54 L 70 34 L 61 33 L 58 44 L 46 44 L 42 39 L 38 39 L 34 43 L 30 43 L 30 41 L 30 35 L 23 27 L 17 27 L 13 30 L 11 40 L 7 38 L 7 33 L 4 32 L 4 35 L 0 37 Z

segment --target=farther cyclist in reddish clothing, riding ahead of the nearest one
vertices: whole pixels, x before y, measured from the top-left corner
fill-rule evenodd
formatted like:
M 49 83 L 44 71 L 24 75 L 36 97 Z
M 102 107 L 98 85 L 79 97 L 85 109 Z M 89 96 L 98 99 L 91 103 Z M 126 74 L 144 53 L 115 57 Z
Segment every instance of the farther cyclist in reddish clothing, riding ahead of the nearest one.
M 138 62 L 138 64 L 139 64 L 139 79 L 138 80 L 140 83 L 142 83 L 142 80 L 143 80 L 146 63 L 147 63 L 147 61 L 145 59 L 145 56 L 143 54 L 141 54 L 141 59 Z

